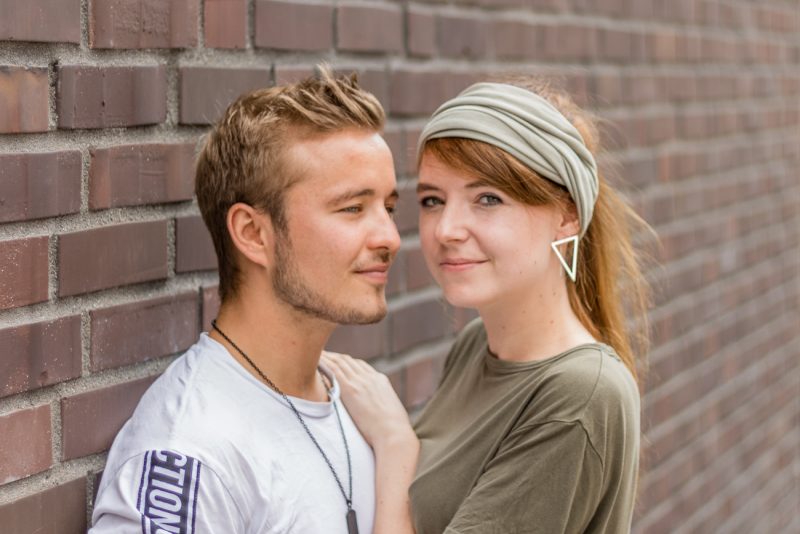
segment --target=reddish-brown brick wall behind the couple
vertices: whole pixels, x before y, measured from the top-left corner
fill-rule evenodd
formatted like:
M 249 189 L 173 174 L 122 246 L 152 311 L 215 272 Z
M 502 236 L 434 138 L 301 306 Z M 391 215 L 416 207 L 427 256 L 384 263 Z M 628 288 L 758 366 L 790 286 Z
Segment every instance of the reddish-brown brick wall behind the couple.
M 425 271 L 415 139 L 488 73 L 559 76 L 662 240 L 635 531 L 800 528 L 797 2 L 0 0 L 0 530 L 85 530 L 115 432 L 217 306 L 195 142 L 322 59 L 384 103 L 402 197 L 389 316 L 332 348 L 425 402 L 472 315 Z

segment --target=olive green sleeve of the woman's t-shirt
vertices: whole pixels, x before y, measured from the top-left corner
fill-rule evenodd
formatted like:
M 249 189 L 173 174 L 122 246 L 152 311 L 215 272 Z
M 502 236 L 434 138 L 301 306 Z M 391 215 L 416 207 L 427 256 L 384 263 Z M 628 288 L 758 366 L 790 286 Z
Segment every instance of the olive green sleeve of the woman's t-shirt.
M 445 534 L 584 532 L 601 497 L 603 468 L 580 423 L 514 430 Z

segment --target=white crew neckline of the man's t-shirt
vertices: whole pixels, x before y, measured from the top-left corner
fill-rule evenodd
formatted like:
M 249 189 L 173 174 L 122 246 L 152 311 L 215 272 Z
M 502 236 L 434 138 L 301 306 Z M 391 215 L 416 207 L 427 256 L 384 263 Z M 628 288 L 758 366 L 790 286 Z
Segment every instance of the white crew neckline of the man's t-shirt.
M 286 403 L 286 400 L 284 400 L 284 398 L 278 392 L 276 392 L 271 387 L 263 383 L 261 380 L 258 380 L 255 376 L 253 376 L 244 366 L 242 366 L 241 363 L 239 363 L 239 361 L 236 358 L 233 357 L 233 355 L 228 351 L 225 345 L 213 339 L 211 336 L 208 335 L 207 332 L 203 332 L 200 334 L 200 344 L 203 345 L 206 349 L 218 353 L 221 356 L 220 358 L 213 358 L 214 362 L 234 372 L 237 376 L 247 381 L 250 385 L 255 386 L 262 392 L 266 393 L 273 400 L 284 405 L 286 409 L 291 410 L 291 407 Z M 336 380 L 336 377 L 330 371 L 330 369 L 326 368 L 322 364 L 319 365 L 319 370 L 322 372 L 325 378 L 327 378 L 328 381 L 331 383 L 331 389 L 328 392 L 330 400 L 324 402 L 317 402 L 308 399 L 302 399 L 300 397 L 294 397 L 292 395 L 287 395 L 297 408 L 297 411 L 304 416 L 315 417 L 315 418 L 327 417 L 333 413 L 333 403 L 339 400 L 340 389 L 339 389 L 339 382 Z

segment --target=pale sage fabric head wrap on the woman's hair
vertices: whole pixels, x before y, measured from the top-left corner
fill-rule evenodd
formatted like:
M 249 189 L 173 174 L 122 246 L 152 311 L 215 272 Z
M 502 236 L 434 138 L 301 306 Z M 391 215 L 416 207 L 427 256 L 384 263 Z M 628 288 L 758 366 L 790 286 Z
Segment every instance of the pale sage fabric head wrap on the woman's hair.
M 429 139 L 461 137 L 494 145 L 563 185 L 578 209 L 581 237 L 597 200 L 597 164 L 578 130 L 539 95 L 502 83 L 477 83 L 442 104 L 422 130 Z

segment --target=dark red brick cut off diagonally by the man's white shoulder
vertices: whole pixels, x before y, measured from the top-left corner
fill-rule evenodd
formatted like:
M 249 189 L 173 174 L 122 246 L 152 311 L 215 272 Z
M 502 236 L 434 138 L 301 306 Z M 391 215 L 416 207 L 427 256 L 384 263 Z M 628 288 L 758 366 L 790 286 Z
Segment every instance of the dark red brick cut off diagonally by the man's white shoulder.
M 63 459 L 108 449 L 155 379 L 141 378 L 61 399 Z

